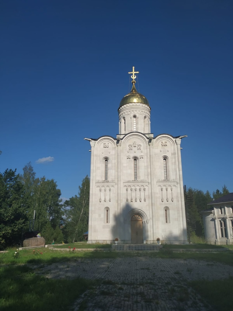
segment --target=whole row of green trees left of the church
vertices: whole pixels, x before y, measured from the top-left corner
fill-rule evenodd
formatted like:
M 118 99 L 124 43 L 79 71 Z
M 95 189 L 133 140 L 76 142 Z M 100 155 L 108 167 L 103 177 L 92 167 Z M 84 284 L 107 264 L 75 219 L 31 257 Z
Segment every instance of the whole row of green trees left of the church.
M 89 187 L 86 176 L 78 195 L 62 203 L 54 179 L 36 177 L 31 162 L 23 174 L 16 174 L 16 169 L 0 173 L 0 249 L 21 245 L 23 233 L 29 230 L 39 231 L 46 244 L 83 240 L 88 230 Z

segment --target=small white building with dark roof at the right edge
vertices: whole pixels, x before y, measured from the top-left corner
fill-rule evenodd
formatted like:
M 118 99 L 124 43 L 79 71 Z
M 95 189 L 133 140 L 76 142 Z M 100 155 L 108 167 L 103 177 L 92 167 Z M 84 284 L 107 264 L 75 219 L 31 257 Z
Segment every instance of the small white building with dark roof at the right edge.
M 233 244 L 233 193 L 214 200 L 202 211 L 205 241 L 209 244 Z

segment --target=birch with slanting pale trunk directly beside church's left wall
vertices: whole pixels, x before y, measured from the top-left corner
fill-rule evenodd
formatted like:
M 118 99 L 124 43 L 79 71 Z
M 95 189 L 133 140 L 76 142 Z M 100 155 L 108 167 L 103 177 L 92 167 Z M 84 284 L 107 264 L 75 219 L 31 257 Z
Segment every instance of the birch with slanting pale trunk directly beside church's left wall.
M 83 240 L 83 234 L 88 230 L 89 192 L 90 179 L 86 176 L 79 186 L 79 196 L 75 195 L 63 204 L 66 215 L 64 235 L 69 243 Z

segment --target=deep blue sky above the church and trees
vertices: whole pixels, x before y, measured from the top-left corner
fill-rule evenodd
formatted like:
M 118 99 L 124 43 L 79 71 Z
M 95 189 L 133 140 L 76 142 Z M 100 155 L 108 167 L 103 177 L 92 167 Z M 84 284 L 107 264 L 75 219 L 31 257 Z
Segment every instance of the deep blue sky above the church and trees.
M 231 0 L 2 2 L 0 171 L 31 161 L 78 194 L 83 138 L 116 137 L 135 66 L 154 136 L 188 135 L 184 184 L 233 192 L 232 16 Z

